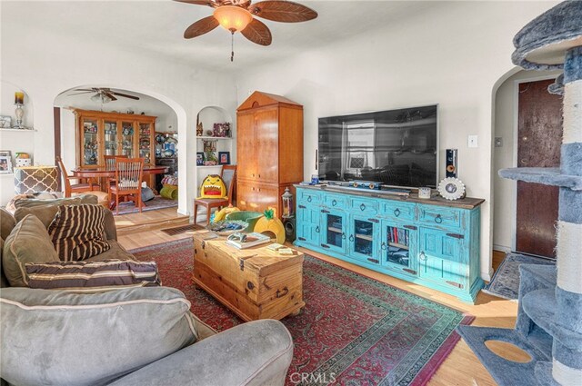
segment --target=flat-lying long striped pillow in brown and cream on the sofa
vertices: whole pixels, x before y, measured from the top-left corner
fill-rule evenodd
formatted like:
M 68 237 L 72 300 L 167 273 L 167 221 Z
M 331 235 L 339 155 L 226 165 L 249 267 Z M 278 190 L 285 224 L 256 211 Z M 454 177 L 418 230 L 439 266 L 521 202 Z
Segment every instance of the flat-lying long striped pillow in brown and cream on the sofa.
M 101 292 L 162 285 L 156 262 L 31 262 L 25 268 L 28 286 L 44 290 Z

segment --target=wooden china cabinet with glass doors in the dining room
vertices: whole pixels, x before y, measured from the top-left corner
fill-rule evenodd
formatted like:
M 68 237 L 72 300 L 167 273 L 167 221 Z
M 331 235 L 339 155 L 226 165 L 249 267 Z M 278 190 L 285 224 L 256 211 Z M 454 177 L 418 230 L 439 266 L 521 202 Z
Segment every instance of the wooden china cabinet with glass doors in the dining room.
M 146 165 L 156 163 L 156 116 L 104 113 L 73 109 L 76 119 L 76 166 L 105 166 L 105 155 L 144 158 Z M 154 176 L 144 181 L 154 187 Z

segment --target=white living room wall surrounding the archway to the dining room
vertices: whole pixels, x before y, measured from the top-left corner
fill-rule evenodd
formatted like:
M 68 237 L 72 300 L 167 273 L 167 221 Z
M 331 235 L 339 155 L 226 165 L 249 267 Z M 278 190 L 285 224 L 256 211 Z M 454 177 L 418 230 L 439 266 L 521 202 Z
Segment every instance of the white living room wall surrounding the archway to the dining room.
M 224 74 L 166 60 L 98 41 L 77 40 L 53 31 L 37 31 L 3 2 L 0 79 L 18 84 L 35 105 L 35 162 L 54 164 L 53 104 L 73 87 L 118 87 L 147 94 L 170 105 L 177 115 L 180 213 L 190 213 L 196 195 L 196 114 L 217 105 L 236 111 L 235 84 Z M 98 39 L 98 34 L 95 34 Z M 18 60 L 5 60 L 18 58 Z M 100 58 L 104 58 L 100 60 Z M 107 58 L 105 60 L 105 58 Z M 2 189 L 5 191 L 5 179 Z M 12 189 L 12 187 L 9 187 Z M 5 202 L 3 202 L 5 203 Z

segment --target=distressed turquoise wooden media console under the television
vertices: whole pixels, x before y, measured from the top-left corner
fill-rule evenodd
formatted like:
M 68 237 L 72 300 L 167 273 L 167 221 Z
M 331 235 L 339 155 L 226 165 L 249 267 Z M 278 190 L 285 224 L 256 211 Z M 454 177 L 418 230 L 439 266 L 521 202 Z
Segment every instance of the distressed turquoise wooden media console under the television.
M 483 201 L 296 185 L 295 244 L 475 302 Z

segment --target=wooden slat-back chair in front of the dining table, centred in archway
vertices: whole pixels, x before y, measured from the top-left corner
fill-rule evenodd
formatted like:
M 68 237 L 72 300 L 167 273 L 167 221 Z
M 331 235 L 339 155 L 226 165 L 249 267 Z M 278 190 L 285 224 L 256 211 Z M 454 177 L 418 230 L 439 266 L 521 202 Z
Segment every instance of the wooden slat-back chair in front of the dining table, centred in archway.
M 115 158 L 115 181 L 109 187 L 109 202 L 115 195 L 115 214 L 119 214 L 119 197 L 133 201 L 142 212 L 143 158 Z

